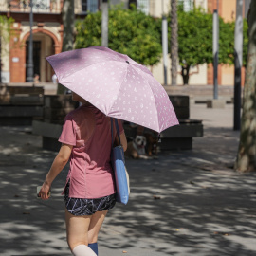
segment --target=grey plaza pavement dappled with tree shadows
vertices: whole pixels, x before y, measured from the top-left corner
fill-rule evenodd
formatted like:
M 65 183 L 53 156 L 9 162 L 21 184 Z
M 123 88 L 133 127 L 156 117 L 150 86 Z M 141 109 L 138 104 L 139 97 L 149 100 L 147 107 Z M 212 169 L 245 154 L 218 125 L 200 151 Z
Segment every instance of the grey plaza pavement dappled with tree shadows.
M 127 160 L 131 198 L 110 210 L 101 256 L 256 255 L 256 174 L 231 169 L 239 141 L 232 105 L 192 104 L 191 118 L 203 119 L 205 127 L 193 150 Z M 0 255 L 71 255 L 60 195 L 67 167 L 52 198 L 36 198 L 55 155 L 42 150 L 31 127 L 0 127 Z

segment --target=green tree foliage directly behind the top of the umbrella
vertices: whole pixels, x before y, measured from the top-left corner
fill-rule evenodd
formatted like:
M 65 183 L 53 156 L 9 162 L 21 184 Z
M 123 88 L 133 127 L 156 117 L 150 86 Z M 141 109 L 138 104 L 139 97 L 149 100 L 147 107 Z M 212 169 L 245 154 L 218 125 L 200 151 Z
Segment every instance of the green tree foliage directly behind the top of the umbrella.
M 157 21 L 137 9 L 109 9 L 108 46 L 140 64 L 154 65 L 161 58 Z M 76 48 L 101 46 L 101 12 L 89 13 L 76 23 Z

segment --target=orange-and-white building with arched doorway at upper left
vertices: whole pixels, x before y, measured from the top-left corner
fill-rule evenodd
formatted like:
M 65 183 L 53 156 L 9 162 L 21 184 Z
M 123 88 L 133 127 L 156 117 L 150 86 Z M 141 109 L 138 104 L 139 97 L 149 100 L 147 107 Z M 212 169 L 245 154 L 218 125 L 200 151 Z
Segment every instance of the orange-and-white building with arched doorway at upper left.
M 42 4 L 43 3 L 43 4 Z M 100 0 L 75 0 L 76 17 L 98 11 Z M 33 0 L 33 64 L 40 82 L 51 82 L 52 69 L 46 56 L 60 53 L 63 43 L 63 0 Z M 29 1 L 0 0 L 0 14 L 12 17 L 11 38 L 2 49 L 3 82 L 26 82 L 30 34 Z

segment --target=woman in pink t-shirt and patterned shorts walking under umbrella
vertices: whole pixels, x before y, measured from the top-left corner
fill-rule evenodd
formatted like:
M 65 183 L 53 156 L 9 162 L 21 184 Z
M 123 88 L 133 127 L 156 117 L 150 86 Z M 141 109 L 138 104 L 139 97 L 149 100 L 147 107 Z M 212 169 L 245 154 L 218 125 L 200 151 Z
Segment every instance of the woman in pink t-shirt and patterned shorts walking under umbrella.
M 51 184 L 70 159 L 64 187 L 67 243 L 75 256 L 98 255 L 98 234 L 107 214 L 115 204 L 115 183 L 110 164 L 111 123 L 99 109 L 72 93 L 82 106 L 70 112 L 59 141 L 60 152 L 46 174 L 39 196 L 46 200 Z M 123 150 L 127 141 L 119 122 Z M 114 128 L 115 141 L 118 141 Z M 116 142 L 117 143 L 117 142 Z

